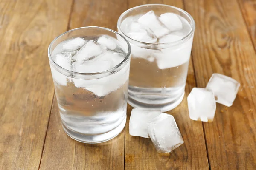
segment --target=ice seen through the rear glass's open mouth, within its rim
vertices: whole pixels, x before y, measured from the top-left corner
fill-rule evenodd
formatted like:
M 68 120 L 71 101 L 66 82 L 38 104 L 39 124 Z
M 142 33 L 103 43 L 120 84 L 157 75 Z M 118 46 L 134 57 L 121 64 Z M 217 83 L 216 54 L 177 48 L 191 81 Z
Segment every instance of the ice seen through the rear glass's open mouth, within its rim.
M 156 43 L 163 39 L 167 42 L 182 39 L 188 33 L 182 32 L 184 31 L 183 26 L 186 26 L 186 24 L 189 25 L 183 17 L 179 17 L 175 13 L 165 13 L 158 17 L 154 11 L 149 11 L 139 17 L 131 16 L 126 18 L 121 27 L 122 30 L 125 30 L 125 34 L 134 40 Z M 179 39 L 173 40 L 172 35 L 176 35 Z M 169 37 L 169 39 L 166 39 L 166 37 Z

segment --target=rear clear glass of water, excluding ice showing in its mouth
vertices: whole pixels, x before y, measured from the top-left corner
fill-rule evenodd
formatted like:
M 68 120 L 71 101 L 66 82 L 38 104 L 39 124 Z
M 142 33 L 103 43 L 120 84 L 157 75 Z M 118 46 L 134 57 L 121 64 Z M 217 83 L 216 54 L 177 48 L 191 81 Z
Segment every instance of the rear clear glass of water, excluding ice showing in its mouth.
M 181 40 L 170 43 L 145 43 L 125 34 L 125 19 L 153 10 L 159 17 L 175 13 L 186 21 L 188 33 Z M 169 111 L 184 97 L 192 41 L 195 31 L 193 18 L 180 8 L 163 4 L 147 4 L 125 11 L 118 19 L 118 32 L 130 42 L 131 68 L 128 103 L 135 108 L 158 108 Z M 163 68 L 159 67 L 159 63 Z M 167 66 L 166 66 L 167 65 Z

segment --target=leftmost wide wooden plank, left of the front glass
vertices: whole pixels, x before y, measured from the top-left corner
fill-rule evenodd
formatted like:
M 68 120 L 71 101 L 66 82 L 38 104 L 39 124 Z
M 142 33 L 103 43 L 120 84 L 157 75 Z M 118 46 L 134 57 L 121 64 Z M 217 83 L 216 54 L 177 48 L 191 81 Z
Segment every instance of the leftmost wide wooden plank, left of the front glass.
M 0 3 L 0 169 L 39 167 L 54 93 L 47 47 L 66 29 L 70 2 Z

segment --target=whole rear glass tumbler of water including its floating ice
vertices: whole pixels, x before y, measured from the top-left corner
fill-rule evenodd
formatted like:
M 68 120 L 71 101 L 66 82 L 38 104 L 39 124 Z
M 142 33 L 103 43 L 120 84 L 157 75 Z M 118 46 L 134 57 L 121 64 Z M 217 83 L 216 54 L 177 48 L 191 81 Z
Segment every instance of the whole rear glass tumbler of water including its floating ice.
M 131 45 L 128 103 L 162 111 L 177 107 L 195 31 L 191 15 L 174 6 L 147 4 L 125 11 L 117 28 Z

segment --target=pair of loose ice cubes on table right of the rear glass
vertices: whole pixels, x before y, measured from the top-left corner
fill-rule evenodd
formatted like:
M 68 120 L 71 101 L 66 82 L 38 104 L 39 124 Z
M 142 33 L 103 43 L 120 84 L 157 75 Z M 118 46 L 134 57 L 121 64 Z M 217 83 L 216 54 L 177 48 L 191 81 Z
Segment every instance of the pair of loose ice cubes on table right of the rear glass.
M 193 88 L 187 97 L 189 117 L 192 120 L 212 122 L 216 102 L 230 107 L 236 98 L 240 83 L 222 74 L 212 74 L 206 88 Z

